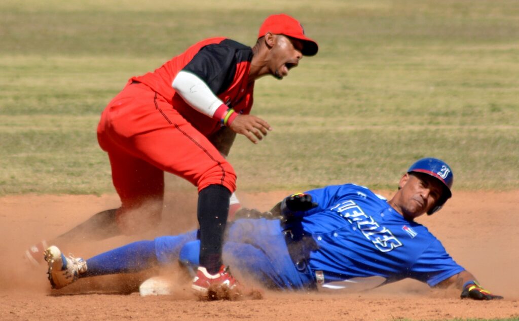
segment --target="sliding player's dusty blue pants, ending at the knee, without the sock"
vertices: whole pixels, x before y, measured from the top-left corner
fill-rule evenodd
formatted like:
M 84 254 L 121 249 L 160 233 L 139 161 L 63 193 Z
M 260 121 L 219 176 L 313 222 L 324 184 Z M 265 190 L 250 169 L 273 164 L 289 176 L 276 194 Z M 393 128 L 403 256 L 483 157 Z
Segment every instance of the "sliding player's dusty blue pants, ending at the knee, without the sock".
M 158 262 L 170 264 L 180 260 L 197 266 L 200 241 L 192 239 L 193 232 L 156 238 Z M 298 290 L 313 284 L 313 277 L 299 272 L 292 262 L 279 220 L 239 219 L 230 224 L 223 260 L 269 288 Z

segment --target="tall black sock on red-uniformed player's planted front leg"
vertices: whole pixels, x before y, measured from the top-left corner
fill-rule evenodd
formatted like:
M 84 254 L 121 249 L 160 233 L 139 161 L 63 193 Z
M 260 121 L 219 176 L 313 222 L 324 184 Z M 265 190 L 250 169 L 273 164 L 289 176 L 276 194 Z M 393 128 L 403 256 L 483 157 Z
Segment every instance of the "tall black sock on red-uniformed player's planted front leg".
M 215 274 L 222 266 L 222 247 L 230 191 L 221 185 L 209 185 L 198 193 L 200 225 L 200 266 Z

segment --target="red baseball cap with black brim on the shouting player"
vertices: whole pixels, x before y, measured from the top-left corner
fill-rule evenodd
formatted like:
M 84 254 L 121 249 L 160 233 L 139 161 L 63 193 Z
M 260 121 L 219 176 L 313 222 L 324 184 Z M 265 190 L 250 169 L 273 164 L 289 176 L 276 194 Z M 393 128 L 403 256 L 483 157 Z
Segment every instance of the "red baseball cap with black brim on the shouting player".
M 267 32 L 302 40 L 303 55 L 315 55 L 319 50 L 316 41 L 305 36 L 305 31 L 301 23 L 284 13 L 268 16 L 260 27 L 258 39 L 265 36 Z

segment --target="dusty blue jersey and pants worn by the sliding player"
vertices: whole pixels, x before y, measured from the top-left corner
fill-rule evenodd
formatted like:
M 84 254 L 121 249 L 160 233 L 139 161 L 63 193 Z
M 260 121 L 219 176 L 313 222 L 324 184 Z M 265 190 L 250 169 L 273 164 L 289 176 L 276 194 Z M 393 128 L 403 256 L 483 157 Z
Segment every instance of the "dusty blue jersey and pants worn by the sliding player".
M 225 262 L 279 289 L 370 288 L 411 277 L 434 286 L 465 269 L 426 227 L 404 219 L 383 197 L 346 184 L 307 192 L 319 205 L 287 222 L 229 224 Z M 197 266 L 195 232 L 155 240 L 159 262 Z M 179 252 L 180 251 L 180 252 Z

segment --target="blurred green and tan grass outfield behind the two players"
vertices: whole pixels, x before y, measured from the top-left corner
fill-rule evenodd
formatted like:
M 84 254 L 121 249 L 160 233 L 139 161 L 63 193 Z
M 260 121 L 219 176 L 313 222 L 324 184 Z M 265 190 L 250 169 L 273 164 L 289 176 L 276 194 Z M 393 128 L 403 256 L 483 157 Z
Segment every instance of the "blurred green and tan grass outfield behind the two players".
M 237 139 L 240 190 L 394 188 L 425 156 L 452 165 L 455 190 L 519 188 L 516 0 L 4 0 L 0 195 L 114 192 L 95 128 L 126 80 L 205 37 L 253 45 L 277 12 L 320 52 L 256 82 L 274 131 Z

